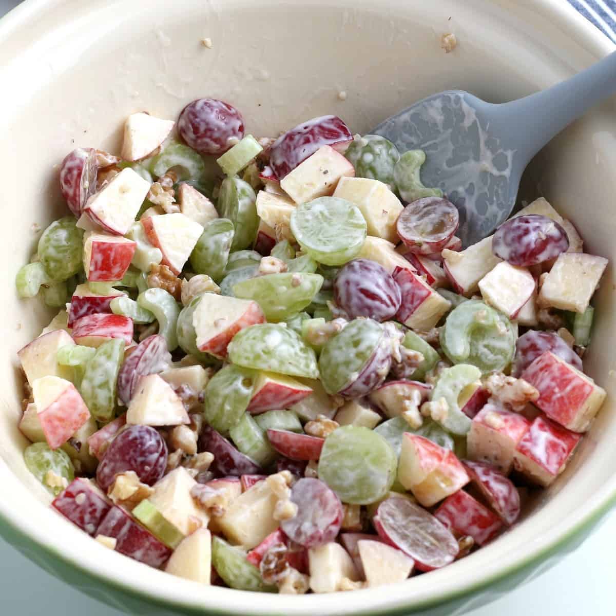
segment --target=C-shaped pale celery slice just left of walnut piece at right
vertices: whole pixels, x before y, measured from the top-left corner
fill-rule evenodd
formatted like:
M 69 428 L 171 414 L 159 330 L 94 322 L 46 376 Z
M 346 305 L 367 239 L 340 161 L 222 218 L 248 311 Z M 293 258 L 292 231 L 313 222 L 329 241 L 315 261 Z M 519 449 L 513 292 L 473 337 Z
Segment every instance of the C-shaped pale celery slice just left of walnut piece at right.
M 464 395 L 468 391 L 466 388 L 474 387 L 480 376 L 481 371 L 476 366 L 459 363 L 451 368 L 445 368 L 434 385 L 432 400 L 444 398 L 447 402 L 447 413 L 439 423 L 452 434 L 463 436 L 471 429 L 471 419 L 463 413 L 458 400 L 460 397 L 467 398 Z

